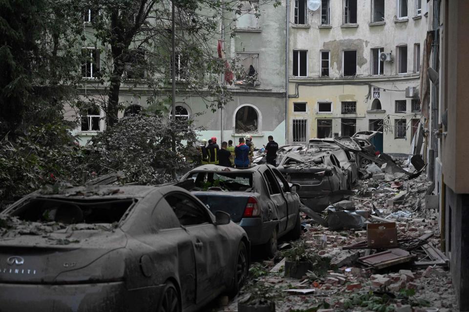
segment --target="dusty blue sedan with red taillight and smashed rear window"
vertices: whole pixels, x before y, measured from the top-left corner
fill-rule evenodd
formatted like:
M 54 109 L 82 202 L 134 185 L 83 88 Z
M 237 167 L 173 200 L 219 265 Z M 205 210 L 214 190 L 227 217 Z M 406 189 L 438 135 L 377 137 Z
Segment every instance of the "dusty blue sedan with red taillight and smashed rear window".
M 259 245 L 270 258 L 277 252 L 278 238 L 296 239 L 301 234 L 299 186 L 290 185 L 272 165 L 243 170 L 204 165 L 181 180 L 187 179 L 194 182 L 193 195 L 211 211 L 230 214 L 251 244 Z

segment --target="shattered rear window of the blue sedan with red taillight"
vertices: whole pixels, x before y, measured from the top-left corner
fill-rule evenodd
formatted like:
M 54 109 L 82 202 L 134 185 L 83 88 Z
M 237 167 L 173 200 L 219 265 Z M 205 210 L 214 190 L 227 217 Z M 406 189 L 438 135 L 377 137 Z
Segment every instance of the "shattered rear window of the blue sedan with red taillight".
M 253 173 L 250 172 L 193 172 L 194 190 L 200 191 L 250 191 Z

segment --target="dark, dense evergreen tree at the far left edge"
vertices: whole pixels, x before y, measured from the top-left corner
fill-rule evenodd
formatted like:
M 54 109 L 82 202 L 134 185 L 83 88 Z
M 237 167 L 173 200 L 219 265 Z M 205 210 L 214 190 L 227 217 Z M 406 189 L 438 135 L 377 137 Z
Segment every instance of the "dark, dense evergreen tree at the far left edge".
M 75 93 L 78 0 L 0 2 L 0 137 L 62 120 Z

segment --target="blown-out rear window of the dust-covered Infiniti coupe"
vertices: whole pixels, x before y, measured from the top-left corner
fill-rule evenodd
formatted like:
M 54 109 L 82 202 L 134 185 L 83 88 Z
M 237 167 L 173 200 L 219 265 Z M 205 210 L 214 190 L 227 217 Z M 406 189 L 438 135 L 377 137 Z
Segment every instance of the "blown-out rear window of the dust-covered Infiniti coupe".
M 100 224 L 119 222 L 136 199 L 89 199 L 35 197 L 25 201 L 10 215 L 30 222 Z

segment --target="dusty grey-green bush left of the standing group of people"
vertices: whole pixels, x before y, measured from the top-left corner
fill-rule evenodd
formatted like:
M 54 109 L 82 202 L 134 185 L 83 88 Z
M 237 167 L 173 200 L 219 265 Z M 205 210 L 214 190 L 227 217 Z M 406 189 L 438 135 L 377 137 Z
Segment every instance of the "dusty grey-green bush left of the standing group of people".
M 185 170 L 196 150 L 195 128 L 187 120 L 133 115 L 93 137 L 88 147 L 86 171 L 97 176 L 123 171 L 126 182 L 158 184 L 171 180 L 171 171 Z M 172 152 L 172 140 L 176 152 Z M 189 144 L 184 144 L 188 142 Z M 166 171 L 165 174 L 161 174 Z

